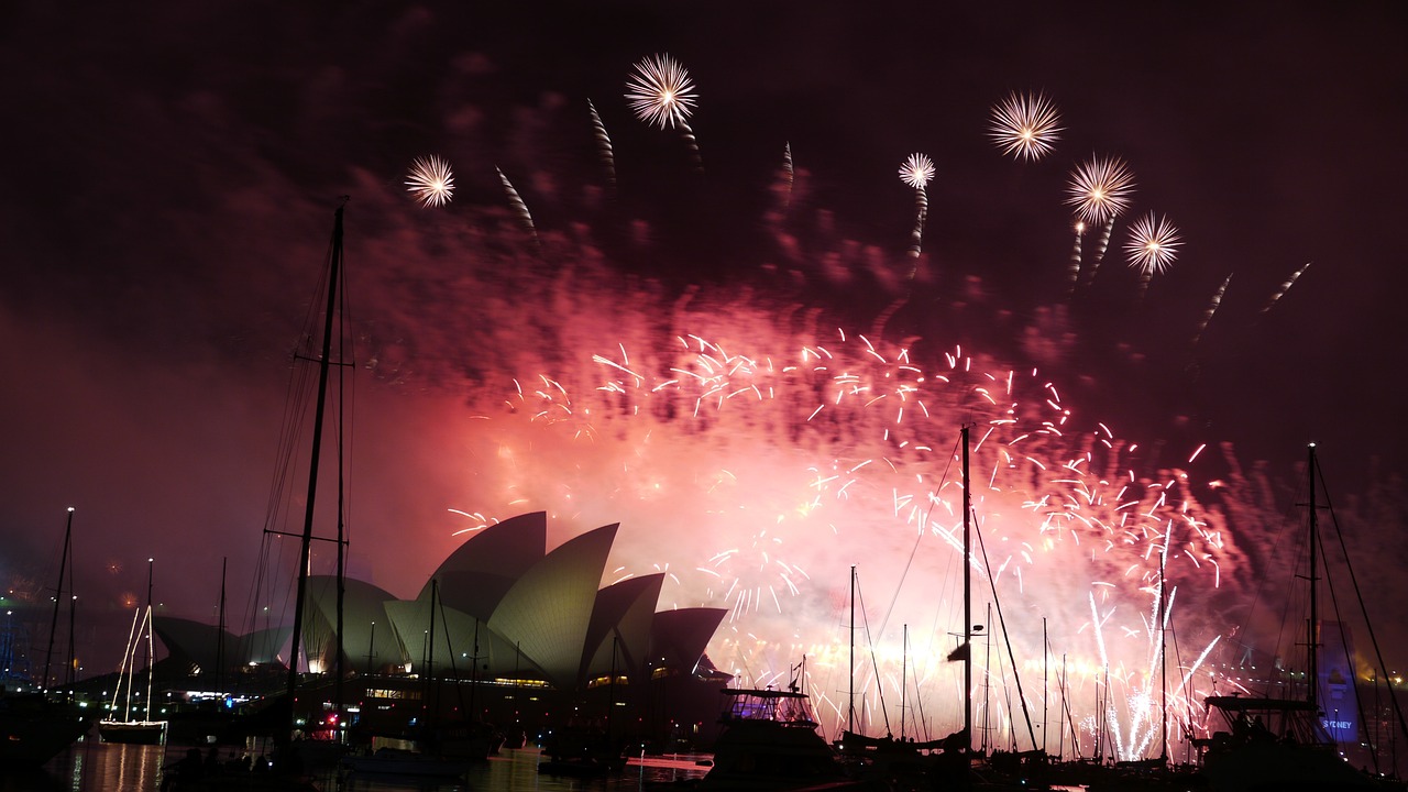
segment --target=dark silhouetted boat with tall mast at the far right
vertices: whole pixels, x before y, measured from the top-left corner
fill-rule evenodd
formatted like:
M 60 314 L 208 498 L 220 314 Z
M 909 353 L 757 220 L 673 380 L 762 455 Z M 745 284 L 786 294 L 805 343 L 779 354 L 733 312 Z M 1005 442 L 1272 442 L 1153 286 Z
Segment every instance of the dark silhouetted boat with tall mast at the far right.
M 1339 753 L 1319 700 L 1318 650 L 1321 623 L 1316 583 L 1319 568 L 1319 524 L 1316 489 L 1319 466 L 1315 444 L 1309 444 L 1307 475 L 1309 481 L 1308 548 L 1309 619 L 1305 623 L 1307 651 L 1305 691 L 1300 698 L 1270 696 L 1208 696 L 1209 710 L 1221 713 L 1228 731 L 1198 738 L 1194 744 L 1202 753 L 1201 774 L 1214 792 L 1242 792 L 1249 789 L 1404 789 L 1400 781 L 1388 781 L 1362 772 Z M 1370 630 L 1371 633 L 1371 630 Z M 1394 702 L 1397 710 L 1397 700 Z M 1400 723 L 1402 714 L 1398 716 Z

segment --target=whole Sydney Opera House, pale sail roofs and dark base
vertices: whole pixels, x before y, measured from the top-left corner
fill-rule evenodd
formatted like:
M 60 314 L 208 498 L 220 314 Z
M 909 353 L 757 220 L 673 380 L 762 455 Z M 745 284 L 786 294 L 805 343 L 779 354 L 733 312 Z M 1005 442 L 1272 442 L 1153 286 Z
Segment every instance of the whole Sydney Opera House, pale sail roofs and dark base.
M 432 696 L 436 709 L 529 730 L 618 716 L 642 731 L 711 731 L 727 676 L 704 648 L 727 610 L 656 610 L 663 574 L 603 588 L 617 528 L 549 552 L 546 514 L 521 514 L 465 541 L 415 599 L 346 579 L 341 619 L 337 578 L 310 578 L 307 668 L 322 679 L 341 669 L 351 719 L 393 731 Z M 290 638 L 287 627 L 232 636 L 169 617 L 155 630 L 173 661 L 206 674 L 283 665 Z M 300 699 L 331 710 L 331 689 Z

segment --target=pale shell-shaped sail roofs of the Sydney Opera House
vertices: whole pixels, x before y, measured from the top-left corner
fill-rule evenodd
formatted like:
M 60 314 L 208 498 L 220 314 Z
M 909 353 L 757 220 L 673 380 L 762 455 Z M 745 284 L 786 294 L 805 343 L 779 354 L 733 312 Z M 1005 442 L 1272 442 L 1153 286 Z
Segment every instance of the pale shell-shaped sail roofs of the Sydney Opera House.
M 601 588 L 618 527 L 583 533 L 548 552 L 546 513 L 520 514 L 466 540 L 408 600 L 346 579 L 342 641 L 335 640 L 337 578 L 313 576 L 304 612 L 308 667 L 334 669 L 341 644 L 344 668 L 358 674 L 536 678 L 569 691 L 611 669 L 631 678 L 662 667 L 689 674 L 727 609 L 656 612 L 663 575 Z M 159 617 L 156 631 L 173 655 L 214 662 L 214 627 Z M 287 651 L 287 629 L 227 634 L 224 645 L 228 665 L 268 662 Z

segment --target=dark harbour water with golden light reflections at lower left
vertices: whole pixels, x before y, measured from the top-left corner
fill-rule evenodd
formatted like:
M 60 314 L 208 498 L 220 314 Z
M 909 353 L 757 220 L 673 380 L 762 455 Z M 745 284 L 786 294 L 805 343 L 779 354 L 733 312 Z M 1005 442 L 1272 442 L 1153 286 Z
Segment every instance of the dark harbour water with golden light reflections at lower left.
M 155 792 L 162 768 L 186 755 L 184 745 L 122 745 L 92 738 L 55 757 L 42 769 L 0 774 L 0 792 Z M 222 758 L 235 748 L 222 747 Z M 324 792 L 639 792 L 650 784 L 700 778 L 696 757 L 632 758 L 625 772 L 582 779 L 538 772 L 536 748 L 504 751 L 459 779 L 314 772 Z

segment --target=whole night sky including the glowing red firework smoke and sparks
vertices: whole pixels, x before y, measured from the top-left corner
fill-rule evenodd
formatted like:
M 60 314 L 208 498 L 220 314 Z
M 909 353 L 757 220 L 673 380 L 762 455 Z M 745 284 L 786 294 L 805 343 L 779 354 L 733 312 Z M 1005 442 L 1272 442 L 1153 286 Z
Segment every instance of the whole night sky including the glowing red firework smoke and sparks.
M 1405 90 L 1400 10 L 1229 8 L 1224 28 L 964 7 L 924 47 L 918 6 L 769 6 L 746 28 L 663 6 L 165 10 L 182 24 L 20 7 L 0 48 L 0 96 L 31 109 L 0 162 L 17 590 L 49 579 L 69 505 L 94 612 L 153 554 L 173 569 L 158 596 L 196 619 L 221 555 L 252 567 L 342 194 L 352 571 L 398 595 L 474 528 L 460 512 L 546 509 L 553 544 L 620 521 L 610 579 L 660 568 L 662 606 L 729 607 L 710 655 L 746 679 L 814 658 L 835 714 L 856 564 L 887 696 L 908 626 L 945 730 L 963 423 L 1021 662 L 1039 665 L 1048 619 L 1088 714 L 1108 661 L 1128 753 L 1148 737 L 1159 554 L 1180 668 L 1221 661 L 1307 440 L 1354 461 L 1343 483 L 1378 526 L 1359 547 L 1385 561 L 1367 578 L 1400 585 L 1383 523 L 1402 513 L 1408 366 L 1364 340 L 1398 328 L 1408 268 L 1384 230 L 1408 165 L 1362 142 L 1402 125 L 1383 100 Z M 642 59 L 666 51 L 669 68 Z M 669 80 L 642 123 L 625 94 L 666 107 Z M 994 148 L 1004 100 L 1021 140 L 1021 116 L 1059 103 L 1059 147 Z M 894 165 L 915 149 L 942 173 L 921 192 L 942 266 L 910 279 L 917 199 Z M 436 183 L 407 175 L 424 152 L 446 189 L 408 194 Z M 1097 268 L 1119 179 L 1076 175 L 1119 169 L 1091 152 L 1139 173 L 1122 211 L 1177 220 L 1178 264 L 1142 300 L 1138 271 Z M 1073 209 L 1098 214 L 1074 249 Z

